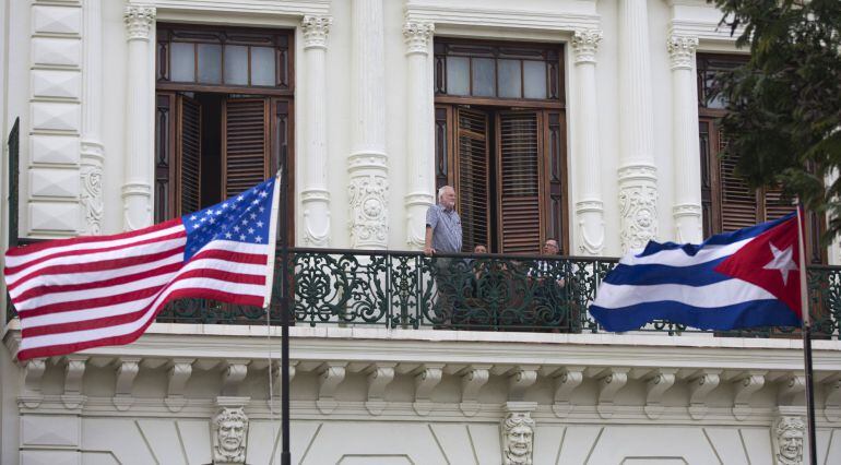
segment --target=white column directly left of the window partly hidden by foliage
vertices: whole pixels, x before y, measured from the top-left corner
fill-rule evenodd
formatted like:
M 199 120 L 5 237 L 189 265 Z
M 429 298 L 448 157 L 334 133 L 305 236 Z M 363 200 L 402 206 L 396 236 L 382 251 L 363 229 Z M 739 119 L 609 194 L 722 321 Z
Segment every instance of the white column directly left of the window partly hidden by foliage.
M 675 240 L 699 243 L 701 219 L 701 154 L 698 144 L 698 91 L 695 50 L 698 37 L 672 35 L 666 43 L 672 61 L 672 156 L 674 157 Z

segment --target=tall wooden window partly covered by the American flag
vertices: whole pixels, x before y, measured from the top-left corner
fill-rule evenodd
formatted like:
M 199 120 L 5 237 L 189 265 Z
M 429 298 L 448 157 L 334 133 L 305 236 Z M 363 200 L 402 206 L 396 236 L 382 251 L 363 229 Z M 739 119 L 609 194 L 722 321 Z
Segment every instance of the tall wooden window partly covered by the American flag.
M 156 222 L 218 203 L 281 166 L 294 172 L 292 37 L 158 25 Z

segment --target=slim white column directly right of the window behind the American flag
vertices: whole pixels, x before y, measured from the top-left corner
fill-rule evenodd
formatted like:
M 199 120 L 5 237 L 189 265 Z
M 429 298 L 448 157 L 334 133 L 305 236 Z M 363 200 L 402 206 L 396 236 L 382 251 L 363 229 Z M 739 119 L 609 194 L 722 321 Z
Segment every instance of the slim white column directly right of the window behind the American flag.
M 330 246 L 330 191 L 327 180 L 327 37 L 329 16 L 304 16 L 304 56 L 307 63 L 304 154 L 304 242 Z

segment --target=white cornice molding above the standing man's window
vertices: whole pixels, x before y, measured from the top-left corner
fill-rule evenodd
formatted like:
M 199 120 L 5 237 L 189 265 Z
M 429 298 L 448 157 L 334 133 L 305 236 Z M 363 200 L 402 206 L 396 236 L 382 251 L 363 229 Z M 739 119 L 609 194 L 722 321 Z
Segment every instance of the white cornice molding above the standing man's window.
M 564 5 L 558 5 L 562 8 Z M 600 16 L 572 11 L 517 10 L 507 8 L 470 8 L 455 3 L 425 4 L 418 0 L 406 3 L 406 21 L 423 21 L 436 25 L 504 27 L 571 32 L 599 26 Z

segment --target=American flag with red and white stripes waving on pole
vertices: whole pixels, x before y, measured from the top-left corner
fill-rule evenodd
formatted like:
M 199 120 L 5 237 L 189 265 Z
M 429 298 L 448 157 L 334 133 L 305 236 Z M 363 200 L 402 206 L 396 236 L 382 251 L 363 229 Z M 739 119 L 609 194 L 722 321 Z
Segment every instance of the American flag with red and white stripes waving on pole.
M 128 344 L 170 300 L 262 306 L 272 289 L 277 182 L 158 225 L 10 249 L 19 360 Z

